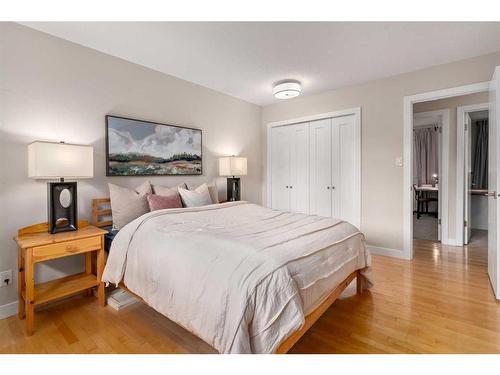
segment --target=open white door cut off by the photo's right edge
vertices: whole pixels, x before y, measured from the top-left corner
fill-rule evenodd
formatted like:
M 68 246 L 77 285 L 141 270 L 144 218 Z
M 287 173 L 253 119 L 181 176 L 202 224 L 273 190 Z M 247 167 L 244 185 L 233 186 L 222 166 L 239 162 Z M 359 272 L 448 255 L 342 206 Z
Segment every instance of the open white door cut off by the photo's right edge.
M 499 252 L 498 252 L 498 231 L 500 220 L 498 214 L 499 199 L 497 199 L 500 174 L 497 168 L 500 167 L 500 67 L 495 68 L 493 79 L 490 83 L 489 104 L 489 142 L 488 142 L 488 275 L 491 285 L 497 299 L 500 299 L 500 279 L 499 270 Z

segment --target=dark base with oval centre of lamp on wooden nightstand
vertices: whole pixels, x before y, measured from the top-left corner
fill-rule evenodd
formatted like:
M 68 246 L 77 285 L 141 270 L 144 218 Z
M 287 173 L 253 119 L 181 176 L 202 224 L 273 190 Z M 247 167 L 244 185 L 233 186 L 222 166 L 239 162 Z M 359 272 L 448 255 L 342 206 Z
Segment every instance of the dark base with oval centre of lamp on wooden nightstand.
M 78 229 L 76 182 L 47 183 L 47 213 L 50 233 Z

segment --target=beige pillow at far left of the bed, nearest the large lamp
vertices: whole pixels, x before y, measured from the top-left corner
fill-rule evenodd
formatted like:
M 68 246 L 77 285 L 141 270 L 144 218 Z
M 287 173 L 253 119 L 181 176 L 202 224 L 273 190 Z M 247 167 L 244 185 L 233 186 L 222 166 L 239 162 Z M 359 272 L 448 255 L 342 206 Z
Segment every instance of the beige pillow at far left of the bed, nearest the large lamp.
M 151 194 L 151 184 L 144 182 L 136 189 L 129 189 L 115 184 L 108 184 L 113 228 L 122 229 L 132 220 L 149 212 L 146 194 Z

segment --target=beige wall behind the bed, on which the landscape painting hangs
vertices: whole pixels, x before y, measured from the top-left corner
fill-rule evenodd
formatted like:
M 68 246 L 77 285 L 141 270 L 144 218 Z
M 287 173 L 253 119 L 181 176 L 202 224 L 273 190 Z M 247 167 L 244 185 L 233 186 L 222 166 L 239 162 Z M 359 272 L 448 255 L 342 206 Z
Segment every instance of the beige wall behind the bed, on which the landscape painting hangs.
M 149 178 L 154 183 L 203 182 L 217 175 L 218 156 L 243 155 L 249 173 L 242 178 L 243 199 L 261 203 L 256 105 L 12 23 L 0 23 L 0 95 L 0 270 L 17 269 L 17 229 L 47 220 L 45 182 L 27 177 L 28 143 L 94 146 L 95 177 L 78 182 L 83 219 L 92 198 L 108 196 L 107 182 L 146 180 L 105 177 L 106 114 L 203 129 L 204 175 Z M 37 279 L 81 267 L 81 259 L 51 262 L 37 269 Z M 0 289 L 0 306 L 17 299 L 16 286 Z

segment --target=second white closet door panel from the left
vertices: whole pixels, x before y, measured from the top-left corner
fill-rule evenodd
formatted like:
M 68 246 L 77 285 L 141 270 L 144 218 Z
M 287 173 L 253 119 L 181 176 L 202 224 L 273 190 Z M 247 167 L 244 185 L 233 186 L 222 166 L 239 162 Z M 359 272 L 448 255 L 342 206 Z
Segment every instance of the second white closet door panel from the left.
M 309 123 L 290 126 L 290 211 L 309 213 Z

